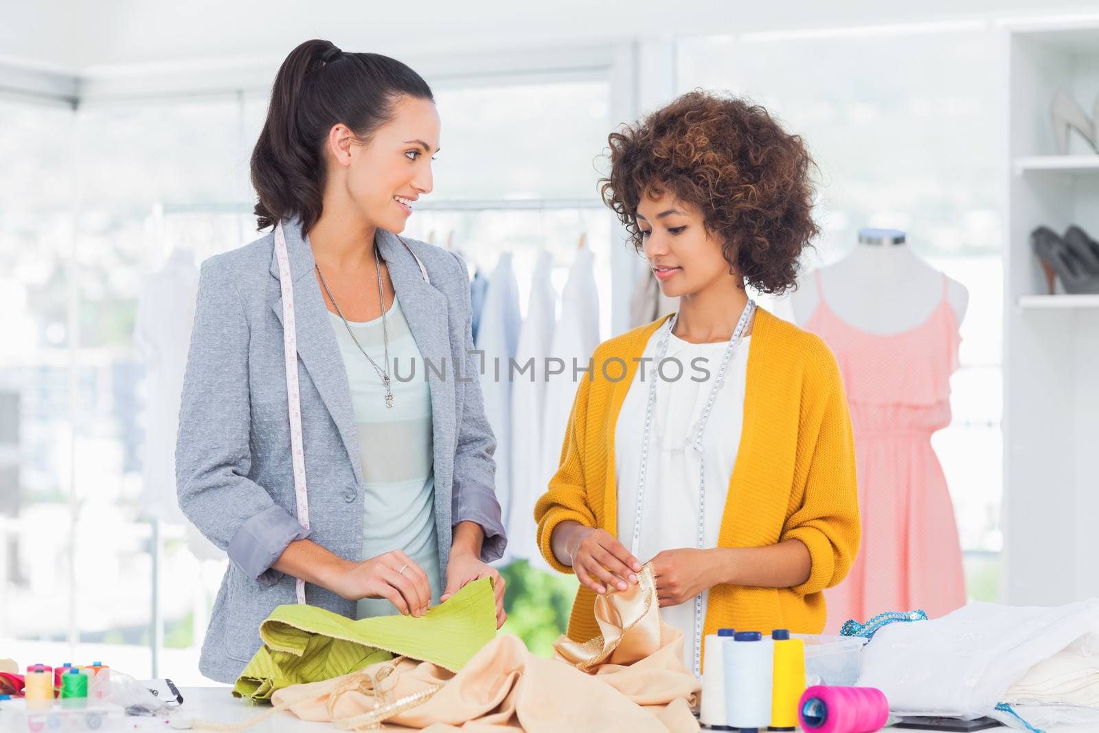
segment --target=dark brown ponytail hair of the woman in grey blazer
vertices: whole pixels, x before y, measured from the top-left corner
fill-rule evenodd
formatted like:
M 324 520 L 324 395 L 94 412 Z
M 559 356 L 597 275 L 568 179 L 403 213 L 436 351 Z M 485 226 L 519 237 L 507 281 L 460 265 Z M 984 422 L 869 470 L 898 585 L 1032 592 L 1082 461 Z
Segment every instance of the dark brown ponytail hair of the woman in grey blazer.
M 342 122 L 367 142 L 403 96 L 434 101 L 419 74 L 388 56 L 345 54 L 320 40 L 291 51 L 275 77 L 267 121 L 252 151 L 257 229 L 297 215 L 308 233 L 321 218 L 322 151 L 332 126 Z

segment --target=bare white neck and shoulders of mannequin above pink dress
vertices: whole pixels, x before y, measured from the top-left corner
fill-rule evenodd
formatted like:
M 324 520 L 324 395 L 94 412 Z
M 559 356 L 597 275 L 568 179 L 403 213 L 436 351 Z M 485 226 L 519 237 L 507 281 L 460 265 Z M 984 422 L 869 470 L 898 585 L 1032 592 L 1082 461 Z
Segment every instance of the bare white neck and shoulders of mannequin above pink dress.
M 896 230 L 859 230 L 859 244 L 840 262 L 820 270 L 829 308 L 851 326 L 875 335 L 910 331 L 939 307 L 943 274 L 920 259 Z M 793 318 L 804 325 L 820 302 L 817 278 L 802 277 L 790 296 Z M 947 278 L 946 298 L 958 324 L 969 291 Z

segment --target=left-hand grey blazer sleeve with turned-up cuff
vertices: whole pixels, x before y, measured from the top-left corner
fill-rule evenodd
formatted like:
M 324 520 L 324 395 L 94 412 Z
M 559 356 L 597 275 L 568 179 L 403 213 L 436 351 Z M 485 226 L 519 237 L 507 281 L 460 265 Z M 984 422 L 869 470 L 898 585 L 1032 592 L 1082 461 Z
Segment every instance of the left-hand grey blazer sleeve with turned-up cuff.
M 270 566 L 309 531 L 247 477 L 248 335 L 231 274 L 207 260 L 180 401 L 176 493 L 184 515 L 210 542 L 248 577 L 269 586 L 282 577 Z

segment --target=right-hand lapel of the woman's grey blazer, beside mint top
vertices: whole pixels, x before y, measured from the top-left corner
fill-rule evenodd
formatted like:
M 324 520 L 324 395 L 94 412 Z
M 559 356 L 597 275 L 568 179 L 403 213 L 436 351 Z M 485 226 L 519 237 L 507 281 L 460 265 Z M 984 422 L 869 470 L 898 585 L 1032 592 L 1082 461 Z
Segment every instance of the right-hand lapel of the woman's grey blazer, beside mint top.
M 428 373 L 428 386 L 431 391 L 431 418 L 433 432 L 433 459 L 435 469 L 435 486 L 448 486 L 451 471 L 454 468 L 454 449 L 457 445 L 455 422 L 455 369 L 465 365 L 454 364 L 455 358 L 465 357 L 465 345 L 457 349 L 451 348 L 451 327 L 446 296 L 423 279 L 420 265 L 412 253 L 406 248 L 400 238 L 390 232 L 378 230 L 378 251 L 386 260 L 389 279 L 393 291 L 401 303 L 404 320 L 409 323 L 412 338 L 423 356 L 423 367 Z M 431 368 L 429 368 L 429 363 Z M 443 376 L 440 376 L 442 371 Z M 475 375 L 462 374 L 463 378 Z M 415 375 L 422 379 L 421 374 Z M 444 436 L 453 436 L 444 441 Z M 443 491 L 435 491 L 436 504 L 447 502 L 445 514 L 439 514 L 442 507 L 436 506 L 436 515 L 449 515 L 449 497 Z M 441 538 L 442 540 L 442 538 Z

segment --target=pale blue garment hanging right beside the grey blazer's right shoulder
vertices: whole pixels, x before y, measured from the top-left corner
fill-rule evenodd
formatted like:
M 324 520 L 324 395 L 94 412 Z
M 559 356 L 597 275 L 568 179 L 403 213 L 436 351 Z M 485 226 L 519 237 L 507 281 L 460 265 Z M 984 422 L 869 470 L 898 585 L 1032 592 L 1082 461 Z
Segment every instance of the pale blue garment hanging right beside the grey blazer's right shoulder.
M 511 253 L 506 252 L 488 279 L 475 341 L 475 347 L 485 352 L 481 395 L 485 417 L 496 435 L 496 498 L 500 502 L 500 515 L 504 518 L 511 499 L 511 381 L 508 371 L 519 344 L 519 282 L 511 267 Z M 504 525 L 504 531 L 508 529 Z

